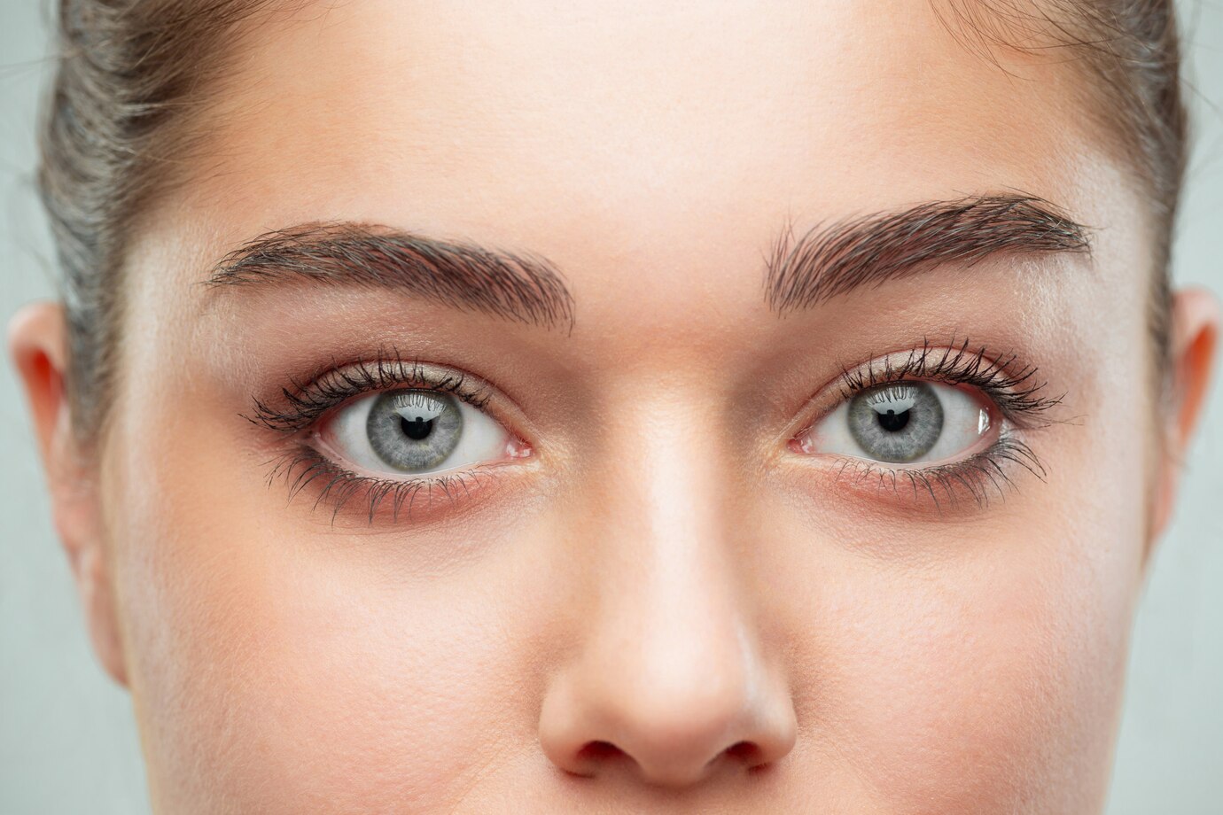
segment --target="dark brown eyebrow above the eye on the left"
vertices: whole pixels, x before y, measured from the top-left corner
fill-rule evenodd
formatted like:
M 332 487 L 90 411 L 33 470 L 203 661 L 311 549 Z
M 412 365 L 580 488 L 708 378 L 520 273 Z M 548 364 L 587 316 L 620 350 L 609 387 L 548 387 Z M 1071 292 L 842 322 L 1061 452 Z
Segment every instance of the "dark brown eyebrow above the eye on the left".
M 544 258 L 372 224 L 331 221 L 265 232 L 226 254 L 207 285 L 291 281 L 389 288 L 528 325 L 574 327 L 574 298 Z

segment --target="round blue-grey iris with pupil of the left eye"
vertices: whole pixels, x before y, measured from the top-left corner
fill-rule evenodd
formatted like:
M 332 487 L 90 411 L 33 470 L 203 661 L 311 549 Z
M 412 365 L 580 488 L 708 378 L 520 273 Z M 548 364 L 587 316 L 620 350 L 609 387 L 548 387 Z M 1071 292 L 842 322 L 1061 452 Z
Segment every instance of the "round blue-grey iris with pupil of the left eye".
M 369 446 L 388 466 L 419 473 L 444 462 L 462 435 L 462 413 L 449 393 L 389 391 L 369 408 Z

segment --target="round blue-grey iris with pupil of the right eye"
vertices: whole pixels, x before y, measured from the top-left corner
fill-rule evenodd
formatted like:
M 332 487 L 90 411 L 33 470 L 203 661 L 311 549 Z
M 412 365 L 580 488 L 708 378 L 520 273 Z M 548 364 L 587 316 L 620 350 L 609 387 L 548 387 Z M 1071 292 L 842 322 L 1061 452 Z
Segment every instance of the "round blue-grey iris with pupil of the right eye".
M 942 435 L 943 404 L 926 382 L 877 385 L 850 400 L 849 430 L 871 458 L 911 462 Z

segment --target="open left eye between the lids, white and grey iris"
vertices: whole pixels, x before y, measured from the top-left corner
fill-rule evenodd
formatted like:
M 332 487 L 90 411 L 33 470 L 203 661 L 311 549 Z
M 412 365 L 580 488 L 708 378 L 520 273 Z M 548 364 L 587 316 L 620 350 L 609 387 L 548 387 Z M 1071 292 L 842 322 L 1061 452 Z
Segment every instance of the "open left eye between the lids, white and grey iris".
M 318 435 L 374 474 L 440 473 L 512 455 L 512 437 L 497 420 L 450 393 L 424 389 L 356 400 Z

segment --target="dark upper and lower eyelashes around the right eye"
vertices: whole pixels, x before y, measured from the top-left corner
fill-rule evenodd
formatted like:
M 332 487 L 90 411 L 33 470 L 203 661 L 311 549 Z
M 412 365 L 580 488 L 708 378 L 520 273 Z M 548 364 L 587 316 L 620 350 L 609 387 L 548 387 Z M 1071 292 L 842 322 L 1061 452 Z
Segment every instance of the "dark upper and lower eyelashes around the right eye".
M 900 468 L 846 456 L 837 472 L 838 480 L 852 473 L 859 481 L 874 478 L 881 489 L 890 489 L 898 495 L 911 488 L 914 501 L 928 495 L 939 512 L 943 508 L 939 495 L 954 505 L 966 492 L 981 507 L 988 505 L 991 488 L 1005 497 L 1008 488 L 1015 489 L 1004 467 L 1008 463 L 1044 480 L 1048 470 L 1036 452 L 1016 437 L 1015 429 L 1032 430 L 1052 424 L 1048 412 L 1062 403 L 1064 395 L 1043 393 L 1046 382 L 1036 378 L 1035 365 L 1018 365 L 1019 358 L 1013 353 L 992 358 L 983 346 L 972 351 L 969 340 L 959 343 L 953 340 L 947 346 L 932 346 L 923 340 L 920 348 L 907 352 L 900 360 L 895 357 L 872 360 L 856 369 L 843 368 L 841 398 L 850 400 L 871 387 L 904 379 L 969 385 L 988 396 L 1014 429 L 1008 430 L 1004 425 L 989 448 L 949 464 Z M 806 425 L 804 433 L 811 426 Z

